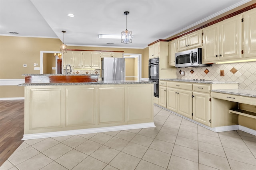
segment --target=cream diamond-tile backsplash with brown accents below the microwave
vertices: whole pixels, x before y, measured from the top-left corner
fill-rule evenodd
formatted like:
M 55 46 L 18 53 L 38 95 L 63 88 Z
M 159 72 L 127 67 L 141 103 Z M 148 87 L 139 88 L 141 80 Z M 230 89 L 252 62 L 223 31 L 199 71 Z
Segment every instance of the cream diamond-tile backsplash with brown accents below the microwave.
M 207 71 L 207 70 L 208 71 Z M 181 75 L 181 71 L 185 72 Z M 220 76 L 224 70 L 224 76 Z M 212 64 L 211 67 L 177 68 L 177 78 L 238 82 L 238 89 L 256 90 L 256 62 Z

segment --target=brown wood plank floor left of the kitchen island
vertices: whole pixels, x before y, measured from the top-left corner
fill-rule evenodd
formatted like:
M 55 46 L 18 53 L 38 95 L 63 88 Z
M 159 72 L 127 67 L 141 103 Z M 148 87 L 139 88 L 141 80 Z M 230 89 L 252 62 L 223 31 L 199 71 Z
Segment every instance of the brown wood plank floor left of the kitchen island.
M 0 100 L 0 166 L 23 142 L 24 100 Z

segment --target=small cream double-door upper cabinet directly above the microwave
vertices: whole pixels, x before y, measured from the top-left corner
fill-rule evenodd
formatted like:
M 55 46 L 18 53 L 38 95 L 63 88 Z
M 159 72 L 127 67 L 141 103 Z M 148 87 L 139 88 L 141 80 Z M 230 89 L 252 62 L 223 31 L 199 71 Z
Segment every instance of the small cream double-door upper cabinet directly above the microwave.
M 184 51 L 187 49 L 194 49 L 202 46 L 202 29 L 182 36 L 177 39 L 177 51 Z

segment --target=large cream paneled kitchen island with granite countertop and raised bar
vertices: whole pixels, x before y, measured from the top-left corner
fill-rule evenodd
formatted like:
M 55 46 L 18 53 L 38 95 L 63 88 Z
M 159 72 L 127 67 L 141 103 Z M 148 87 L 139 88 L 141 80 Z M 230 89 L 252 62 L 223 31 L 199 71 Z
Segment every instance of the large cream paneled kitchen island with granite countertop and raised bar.
M 25 80 L 49 75 L 24 74 Z M 19 84 L 25 86 L 24 140 L 155 127 L 152 83 L 68 79 Z

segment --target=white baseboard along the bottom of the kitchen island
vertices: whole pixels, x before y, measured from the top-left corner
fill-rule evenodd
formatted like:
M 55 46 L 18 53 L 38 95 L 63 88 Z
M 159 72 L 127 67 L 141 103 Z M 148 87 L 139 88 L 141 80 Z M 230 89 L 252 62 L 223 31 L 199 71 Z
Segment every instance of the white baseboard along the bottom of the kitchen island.
M 132 125 L 121 125 L 121 126 L 112 126 L 112 127 L 78 129 L 78 130 L 70 130 L 70 131 L 24 134 L 22 140 L 40 139 L 40 138 L 48 138 L 48 137 L 60 137 L 60 136 L 69 136 L 69 135 L 82 135 L 82 134 L 88 134 L 88 133 L 100 133 L 100 132 L 109 132 L 109 131 L 123 131 L 123 130 L 129 130 L 129 129 L 141 129 L 141 128 L 148 128 L 148 127 L 156 127 L 156 126 L 154 122 L 150 122 L 150 123 L 138 123 L 138 124 L 132 124 Z

